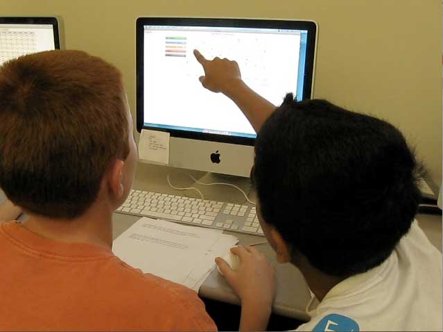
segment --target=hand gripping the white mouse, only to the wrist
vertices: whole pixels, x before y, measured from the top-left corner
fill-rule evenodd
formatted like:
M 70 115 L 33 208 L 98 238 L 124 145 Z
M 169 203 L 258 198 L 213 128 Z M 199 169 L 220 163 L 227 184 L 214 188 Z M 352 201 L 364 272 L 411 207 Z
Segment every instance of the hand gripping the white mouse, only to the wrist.
M 241 299 L 242 306 L 267 306 L 270 310 L 275 297 L 275 271 L 264 254 L 249 246 L 231 248 L 240 259 L 234 271 L 218 257 L 216 264 L 226 281 Z

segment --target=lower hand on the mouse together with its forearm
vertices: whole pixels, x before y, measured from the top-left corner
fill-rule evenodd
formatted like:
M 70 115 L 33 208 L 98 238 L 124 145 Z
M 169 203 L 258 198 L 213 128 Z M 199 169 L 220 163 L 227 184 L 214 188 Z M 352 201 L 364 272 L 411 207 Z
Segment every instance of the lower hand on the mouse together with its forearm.
M 231 249 L 240 259 L 233 270 L 222 258 L 216 258 L 220 272 L 241 299 L 239 331 L 266 331 L 275 297 L 275 271 L 266 256 L 254 247 Z

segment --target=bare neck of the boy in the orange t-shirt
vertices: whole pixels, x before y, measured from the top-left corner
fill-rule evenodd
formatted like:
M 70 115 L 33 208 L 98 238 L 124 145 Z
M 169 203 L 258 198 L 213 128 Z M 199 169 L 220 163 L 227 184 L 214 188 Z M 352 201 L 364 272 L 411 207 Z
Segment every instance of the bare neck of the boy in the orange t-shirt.
M 95 244 L 112 249 L 112 211 L 96 206 L 70 220 L 30 215 L 22 226 L 50 240 Z

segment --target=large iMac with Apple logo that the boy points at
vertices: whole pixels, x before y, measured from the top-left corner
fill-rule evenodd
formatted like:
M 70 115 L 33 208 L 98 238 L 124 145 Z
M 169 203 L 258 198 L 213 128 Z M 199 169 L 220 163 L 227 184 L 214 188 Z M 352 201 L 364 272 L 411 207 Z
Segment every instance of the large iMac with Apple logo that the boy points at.
M 254 129 L 222 94 L 202 87 L 193 56 L 238 63 L 243 81 L 279 106 L 313 92 L 317 26 L 311 21 L 139 17 L 137 130 L 167 131 L 169 164 L 250 176 Z

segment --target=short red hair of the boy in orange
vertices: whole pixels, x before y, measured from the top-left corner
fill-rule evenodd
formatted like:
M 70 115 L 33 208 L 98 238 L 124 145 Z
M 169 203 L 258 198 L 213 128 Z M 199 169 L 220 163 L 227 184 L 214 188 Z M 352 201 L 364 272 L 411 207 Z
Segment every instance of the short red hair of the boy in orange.
M 45 51 L 0 67 L 0 187 L 31 213 L 73 219 L 129 153 L 121 73 L 82 51 Z

